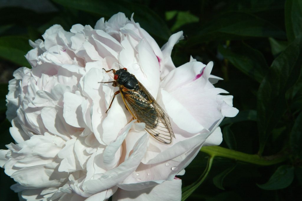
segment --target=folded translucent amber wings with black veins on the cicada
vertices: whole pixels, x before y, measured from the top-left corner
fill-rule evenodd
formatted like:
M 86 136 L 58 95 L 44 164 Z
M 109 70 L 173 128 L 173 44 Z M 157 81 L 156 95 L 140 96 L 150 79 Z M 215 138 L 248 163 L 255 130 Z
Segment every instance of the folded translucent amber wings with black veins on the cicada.
M 121 90 L 127 106 L 139 122 L 146 124 L 146 131 L 158 141 L 171 144 L 175 138 L 169 117 L 152 95 L 139 82 L 140 90 Z

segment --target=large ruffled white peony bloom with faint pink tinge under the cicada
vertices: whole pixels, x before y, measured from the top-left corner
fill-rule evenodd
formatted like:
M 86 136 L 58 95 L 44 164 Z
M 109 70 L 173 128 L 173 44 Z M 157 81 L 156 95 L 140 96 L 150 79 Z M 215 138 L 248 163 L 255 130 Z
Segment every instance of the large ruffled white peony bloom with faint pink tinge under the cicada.
M 213 62 L 191 58 L 175 68 L 173 34 L 160 49 L 123 13 L 91 26 L 60 25 L 30 41 L 32 69 L 19 68 L 9 82 L 7 118 L 15 143 L 1 150 L 0 165 L 26 200 L 180 200 L 184 168 L 202 145 L 222 141 L 219 123 L 233 117 L 232 96 L 214 88 Z M 168 114 L 172 144 L 149 135 L 132 120 L 104 69 L 127 67 Z

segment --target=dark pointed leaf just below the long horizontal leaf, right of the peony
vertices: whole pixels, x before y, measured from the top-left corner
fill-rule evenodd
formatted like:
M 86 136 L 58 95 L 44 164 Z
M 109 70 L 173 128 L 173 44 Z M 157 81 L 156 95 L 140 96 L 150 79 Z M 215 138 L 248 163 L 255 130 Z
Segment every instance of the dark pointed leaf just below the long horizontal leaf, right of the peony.
M 251 48 L 245 43 L 240 43 L 230 48 L 223 48 L 220 45 L 218 51 L 241 72 L 258 82 L 262 81 L 268 65 L 260 51 Z

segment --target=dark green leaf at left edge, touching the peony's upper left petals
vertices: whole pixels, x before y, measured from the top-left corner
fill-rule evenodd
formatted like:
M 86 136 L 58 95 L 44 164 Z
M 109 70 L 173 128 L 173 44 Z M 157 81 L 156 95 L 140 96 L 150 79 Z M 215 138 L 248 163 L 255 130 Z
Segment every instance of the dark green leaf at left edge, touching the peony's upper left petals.
M 31 49 L 28 39 L 21 36 L 0 37 L 0 57 L 20 66 L 30 67 L 24 55 Z

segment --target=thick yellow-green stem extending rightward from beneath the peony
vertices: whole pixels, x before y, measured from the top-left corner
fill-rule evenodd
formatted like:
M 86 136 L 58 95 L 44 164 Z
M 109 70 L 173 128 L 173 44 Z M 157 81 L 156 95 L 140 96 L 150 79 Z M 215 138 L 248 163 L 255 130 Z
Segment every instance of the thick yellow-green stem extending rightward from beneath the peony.
M 235 159 L 243 162 L 249 162 L 256 165 L 274 165 L 287 159 L 285 155 L 262 156 L 256 154 L 247 154 L 235 150 L 226 149 L 219 146 L 206 146 L 201 150 L 210 156 L 220 156 L 224 158 Z

